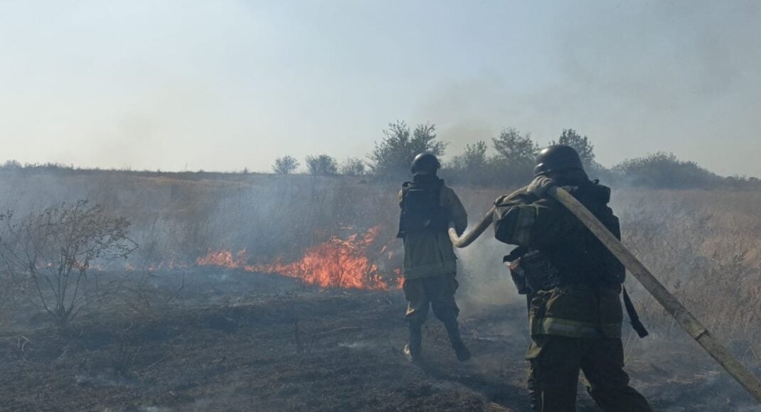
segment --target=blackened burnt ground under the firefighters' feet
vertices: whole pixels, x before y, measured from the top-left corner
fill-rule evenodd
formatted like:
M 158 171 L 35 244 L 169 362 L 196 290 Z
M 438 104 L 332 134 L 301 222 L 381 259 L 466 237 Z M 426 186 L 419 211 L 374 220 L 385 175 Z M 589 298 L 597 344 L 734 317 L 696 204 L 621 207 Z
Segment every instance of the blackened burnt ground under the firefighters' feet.
M 150 284 L 149 298 L 119 296 L 66 331 L 40 315 L 17 319 L 0 334 L 0 409 L 528 408 L 520 304 L 463 313 L 467 363 L 429 320 L 420 368 L 400 351 L 400 291 L 317 290 L 221 270 L 189 272 L 183 287 L 179 272 Z M 750 398 L 689 342 L 655 338 L 627 369 L 657 410 L 756 410 L 743 408 Z M 597 410 L 579 393 L 579 410 Z

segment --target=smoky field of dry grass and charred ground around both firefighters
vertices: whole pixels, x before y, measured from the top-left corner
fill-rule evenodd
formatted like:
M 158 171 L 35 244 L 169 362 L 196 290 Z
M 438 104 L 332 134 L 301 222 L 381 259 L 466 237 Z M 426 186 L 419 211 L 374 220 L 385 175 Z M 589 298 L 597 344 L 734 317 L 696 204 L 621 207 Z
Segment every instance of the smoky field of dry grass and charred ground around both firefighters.
M 454 189 L 473 222 L 513 188 Z M 8 172 L 0 196 L 22 217 L 89 199 L 129 219 L 139 243 L 128 261 L 90 269 L 119 287 L 65 327 L 2 277 L 2 410 L 527 410 L 524 301 L 501 268 L 507 247 L 489 232 L 460 251 L 473 360 L 457 362 L 435 319 L 425 328 L 429 365 L 401 355 L 396 185 Z M 624 242 L 761 375 L 761 194 L 616 188 L 613 206 Z M 345 242 L 386 287 L 321 287 L 275 270 Z M 219 251 L 234 258 L 201 265 Z M 639 340 L 625 327 L 627 370 L 654 407 L 759 410 L 635 280 L 627 287 L 651 331 Z M 597 410 L 579 394 L 580 410 Z

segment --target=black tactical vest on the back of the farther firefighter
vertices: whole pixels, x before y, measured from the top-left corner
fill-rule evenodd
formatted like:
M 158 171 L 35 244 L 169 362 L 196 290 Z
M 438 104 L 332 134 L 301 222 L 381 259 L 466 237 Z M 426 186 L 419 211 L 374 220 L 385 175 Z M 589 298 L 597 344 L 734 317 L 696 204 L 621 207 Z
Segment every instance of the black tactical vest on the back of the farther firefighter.
M 414 232 L 446 232 L 449 214 L 441 204 L 444 181 L 431 176 L 429 182 L 405 182 L 402 185 L 402 213 L 399 217 L 399 233 L 404 238 Z

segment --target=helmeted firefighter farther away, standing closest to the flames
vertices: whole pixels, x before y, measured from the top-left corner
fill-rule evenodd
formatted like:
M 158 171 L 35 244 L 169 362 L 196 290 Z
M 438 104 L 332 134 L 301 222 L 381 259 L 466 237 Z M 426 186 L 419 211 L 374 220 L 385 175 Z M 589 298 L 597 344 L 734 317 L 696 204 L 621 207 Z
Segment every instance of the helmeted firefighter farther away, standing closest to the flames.
M 404 183 L 399 194 L 402 211 L 396 236 L 404 241 L 403 290 L 409 328 L 404 354 L 415 363 L 422 362 L 422 325 L 429 308 L 444 322 L 457 359 L 470 359 L 457 325 L 457 257 L 447 234 L 450 221 L 457 233 L 463 233 L 468 217 L 454 191 L 436 176 L 440 167 L 433 154 L 417 155 L 412 161 L 412 182 Z

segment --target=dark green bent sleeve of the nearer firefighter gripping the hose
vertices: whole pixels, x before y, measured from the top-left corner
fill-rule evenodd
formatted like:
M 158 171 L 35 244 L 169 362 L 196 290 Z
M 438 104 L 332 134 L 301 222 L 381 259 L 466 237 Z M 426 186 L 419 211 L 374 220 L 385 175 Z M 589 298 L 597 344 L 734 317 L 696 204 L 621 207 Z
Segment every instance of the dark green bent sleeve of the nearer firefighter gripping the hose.
M 511 245 L 542 248 L 569 239 L 580 224 L 555 199 L 518 194 L 496 205 L 494 236 Z

